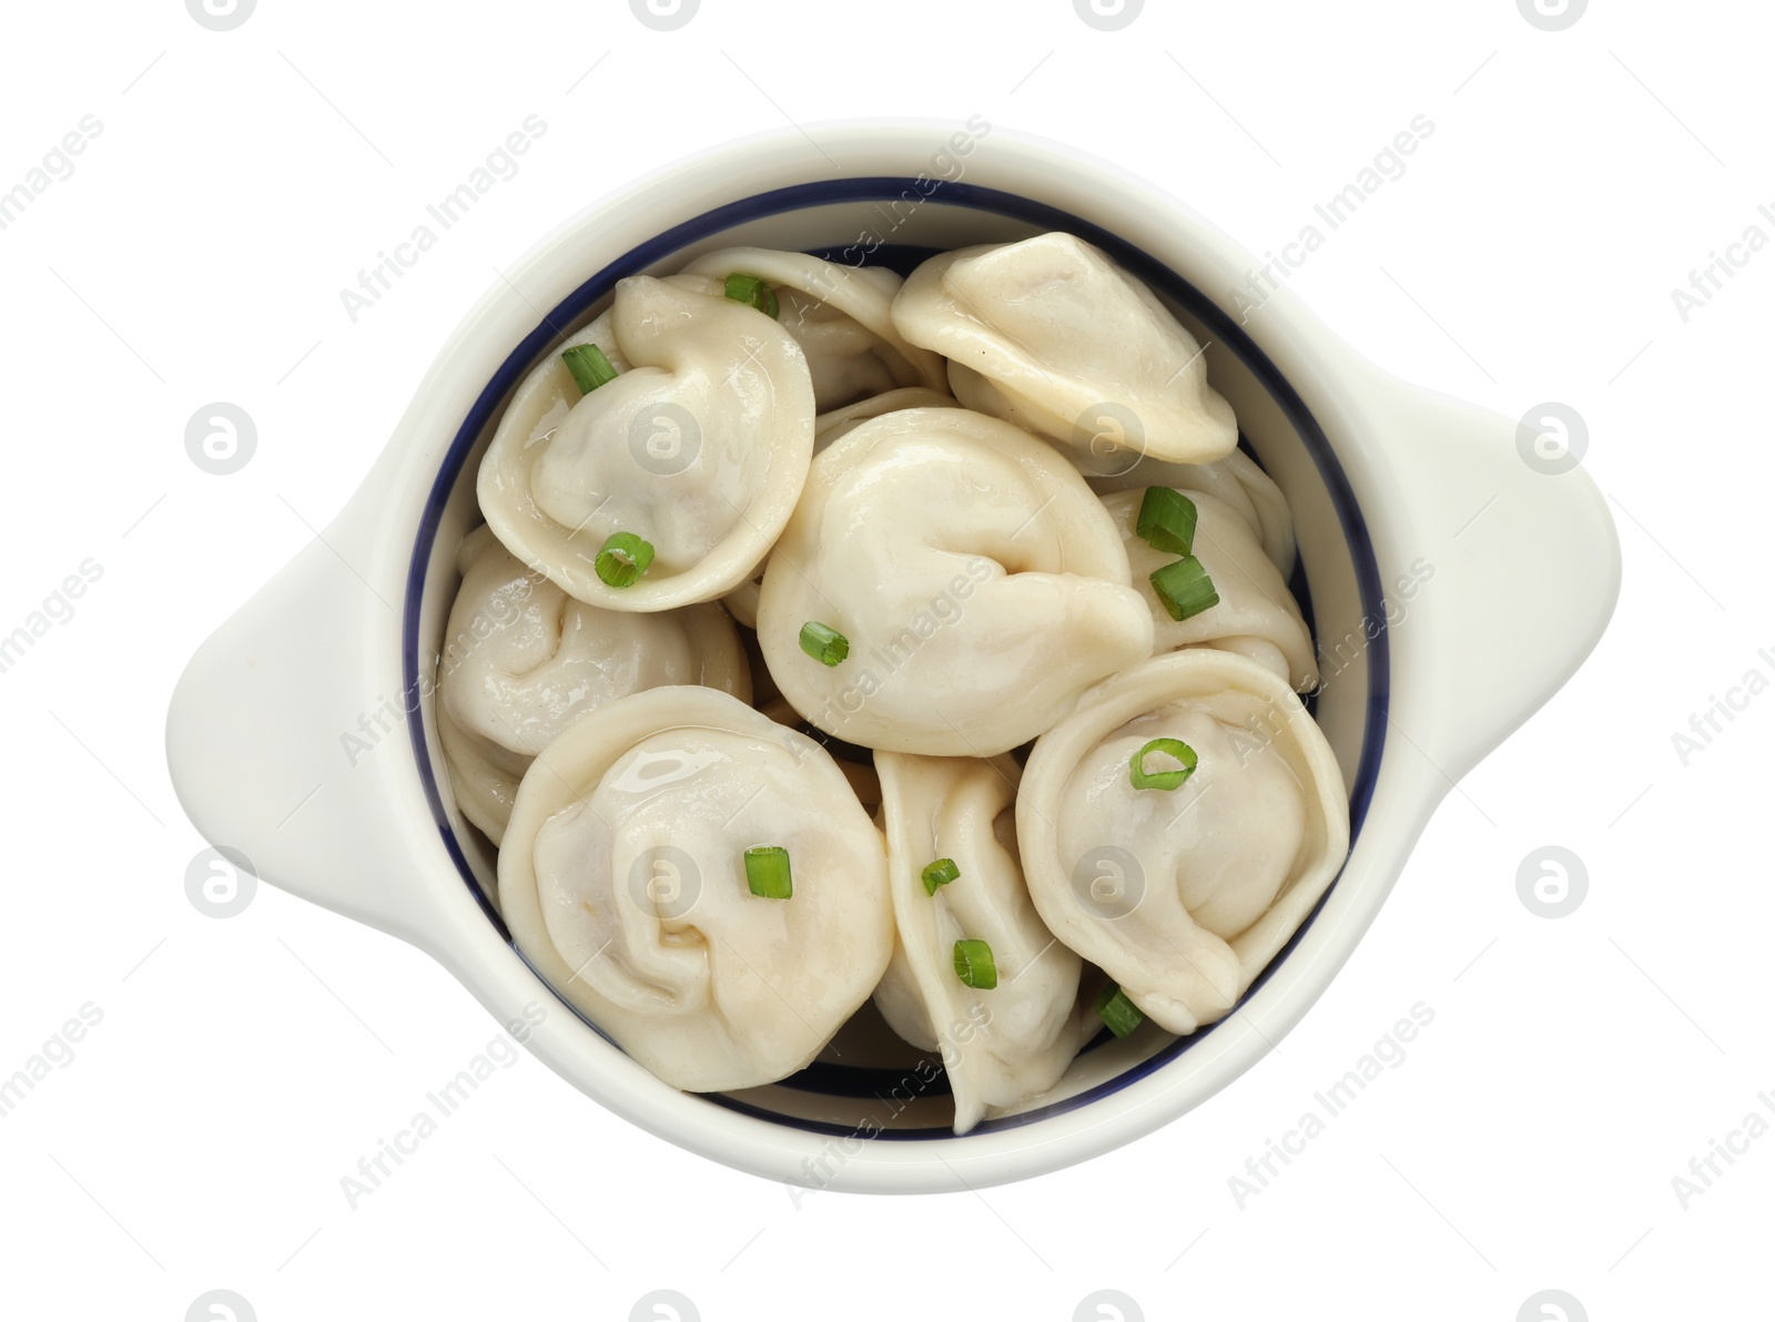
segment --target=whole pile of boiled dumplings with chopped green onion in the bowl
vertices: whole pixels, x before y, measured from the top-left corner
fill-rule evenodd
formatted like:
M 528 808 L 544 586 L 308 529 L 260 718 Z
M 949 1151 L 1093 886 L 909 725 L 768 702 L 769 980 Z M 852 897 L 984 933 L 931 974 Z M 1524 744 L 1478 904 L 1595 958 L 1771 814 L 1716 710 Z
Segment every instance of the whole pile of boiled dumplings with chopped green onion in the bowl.
M 958 1134 L 1097 1035 L 1221 1019 L 1349 846 L 1235 442 L 1196 339 L 1070 234 L 618 282 L 481 463 L 453 637 L 522 593 L 518 632 L 438 667 L 517 946 L 687 1091 L 873 997 Z

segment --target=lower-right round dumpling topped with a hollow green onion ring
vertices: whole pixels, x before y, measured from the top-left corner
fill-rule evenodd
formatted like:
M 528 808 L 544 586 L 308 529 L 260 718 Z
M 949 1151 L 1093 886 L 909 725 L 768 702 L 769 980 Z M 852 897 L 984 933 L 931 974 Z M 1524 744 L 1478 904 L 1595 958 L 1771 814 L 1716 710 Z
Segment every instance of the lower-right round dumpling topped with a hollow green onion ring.
M 1187 759 L 1175 788 L 1136 788 Z M 1143 752 L 1145 751 L 1145 752 Z M 1337 758 L 1299 697 L 1230 653 L 1156 657 L 1035 744 L 1017 799 L 1030 894 L 1060 940 L 1161 1027 L 1221 1019 L 1349 852 Z

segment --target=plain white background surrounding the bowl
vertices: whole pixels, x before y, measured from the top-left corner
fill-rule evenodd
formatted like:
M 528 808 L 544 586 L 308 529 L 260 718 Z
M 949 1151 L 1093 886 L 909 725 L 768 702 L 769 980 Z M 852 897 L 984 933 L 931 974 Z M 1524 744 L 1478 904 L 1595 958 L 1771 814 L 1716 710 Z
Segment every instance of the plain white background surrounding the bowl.
M 1599 0 L 1553 34 L 1512 0 L 1154 0 L 1122 32 L 1067 0 L 705 0 L 676 32 L 616 0 L 5 25 L 0 188 L 83 115 L 103 131 L 0 231 L 0 633 L 83 559 L 103 577 L 0 674 L 0 1074 L 83 1003 L 103 1022 L 0 1120 L 0 1311 L 176 1320 L 225 1287 L 266 1320 L 627 1318 L 673 1288 L 710 1322 L 1061 1320 L 1115 1288 L 1147 1318 L 1509 1322 L 1560 1288 L 1590 1318 L 1768 1315 L 1775 1136 L 1686 1210 L 1672 1176 L 1775 1093 L 1775 697 L 1686 767 L 1670 738 L 1775 676 L 1775 250 L 1686 323 L 1670 298 L 1748 225 L 1775 238 L 1764 5 Z M 532 114 L 522 172 L 353 323 L 341 287 Z M 424 956 L 270 887 L 227 921 L 186 901 L 172 683 L 344 504 L 495 268 L 685 153 L 900 114 L 1088 147 L 1257 252 L 1427 115 L 1294 286 L 1406 378 L 1583 415 L 1626 561 L 1613 628 L 1448 797 L 1280 1051 L 1141 1143 L 985 1196 L 797 1210 L 525 1056 L 351 1210 L 339 1178 L 495 1024 Z M 218 399 L 259 431 L 227 477 L 183 444 Z M 1518 587 L 1496 584 L 1500 630 Z M 1550 843 L 1590 887 L 1558 921 L 1516 894 Z M 1406 1063 L 1241 1210 L 1228 1176 L 1418 1001 L 1436 1019 Z

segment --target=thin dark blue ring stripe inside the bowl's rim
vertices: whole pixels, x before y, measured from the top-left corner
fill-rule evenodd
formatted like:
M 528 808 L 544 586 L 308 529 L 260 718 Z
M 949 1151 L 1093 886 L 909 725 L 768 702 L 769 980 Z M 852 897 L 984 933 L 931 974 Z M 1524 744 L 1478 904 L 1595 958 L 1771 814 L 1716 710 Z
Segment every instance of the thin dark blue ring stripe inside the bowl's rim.
M 501 405 L 504 403 L 508 392 L 522 380 L 522 376 L 536 362 L 538 355 L 548 348 L 554 341 L 561 339 L 566 328 L 570 328 L 589 307 L 593 307 L 600 298 L 604 298 L 625 275 L 646 270 L 653 263 L 671 257 L 674 252 L 698 243 L 712 234 L 719 234 L 733 225 L 744 224 L 747 220 L 760 220 L 765 216 L 783 215 L 785 211 L 799 211 L 811 206 L 829 206 L 836 202 L 888 202 L 902 199 L 909 190 L 918 188 L 918 181 L 898 177 L 898 176 L 861 176 L 850 179 L 827 179 L 820 183 L 793 185 L 788 188 L 776 188 L 770 192 L 756 193 L 753 197 L 740 199 L 737 202 L 728 202 L 726 206 L 705 211 L 692 220 L 685 220 L 680 225 L 667 229 L 657 238 L 641 243 L 639 247 L 628 250 L 609 266 L 600 270 L 596 275 L 589 277 L 573 293 L 563 298 L 541 323 L 525 335 L 517 348 L 506 357 L 493 373 L 492 380 L 476 397 L 474 405 L 469 408 L 467 417 L 456 429 L 456 437 L 451 442 L 449 452 L 444 456 L 444 463 L 438 468 L 438 476 L 431 484 L 431 492 L 426 499 L 424 513 L 419 520 L 419 532 L 414 541 L 414 557 L 406 571 L 406 600 L 403 610 L 403 639 L 401 639 L 401 669 L 403 669 L 403 692 L 421 692 L 421 674 L 419 674 L 419 619 L 422 591 L 426 582 L 428 566 L 431 563 L 433 543 L 437 541 L 438 523 L 444 516 L 444 508 L 449 502 L 451 492 L 462 476 L 463 463 L 469 452 L 474 449 L 481 433 L 486 429 L 488 422 L 497 415 Z M 919 192 L 923 197 L 923 192 Z M 1212 337 L 1227 350 L 1230 350 L 1251 374 L 1264 385 L 1276 406 L 1282 408 L 1289 424 L 1296 429 L 1312 454 L 1314 467 L 1319 470 L 1321 479 L 1326 484 L 1326 492 L 1331 497 L 1331 504 L 1337 509 L 1338 523 L 1344 529 L 1344 539 L 1349 545 L 1351 561 L 1356 570 L 1358 593 L 1361 596 L 1363 619 L 1384 619 L 1384 600 L 1381 587 L 1381 571 L 1374 557 L 1374 545 L 1369 539 L 1367 523 L 1361 518 L 1361 509 L 1356 504 L 1356 493 L 1351 490 L 1349 479 L 1344 476 L 1342 465 L 1337 461 L 1337 454 L 1331 451 L 1331 442 L 1326 438 L 1324 429 L 1319 426 L 1317 419 L 1306 408 L 1306 403 L 1299 397 L 1294 387 L 1282 376 L 1269 357 L 1257 348 L 1244 328 L 1219 309 L 1219 305 L 1203 295 L 1189 280 L 1184 280 L 1170 266 L 1161 263 L 1157 257 L 1150 256 L 1143 248 L 1138 248 L 1125 240 L 1118 238 L 1108 229 L 1095 225 L 1081 216 L 1063 211 L 1045 202 L 1035 202 L 1028 197 L 1017 193 L 1006 193 L 998 188 L 985 188 L 982 185 L 967 183 L 946 183 L 941 192 L 925 197 L 927 202 L 937 202 L 943 206 L 960 206 L 974 211 L 987 211 L 992 215 L 1006 216 L 1010 220 L 1021 220 L 1037 225 L 1045 231 L 1067 231 L 1099 248 L 1108 252 L 1116 263 L 1120 263 L 1127 271 L 1145 280 L 1150 287 L 1170 296 L 1177 305 L 1187 309 L 1195 318 L 1209 327 Z M 882 245 L 886 247 L 886 245 Z M 873 252 L 875 248 L 872 248 Z M 848 250 L 847 250 L 848 254 Z M 1296 587 L 1305 589 L 1305 575 L 1301 568 L 1296 566 Z M 1303 596 L 1303 609 L 1310 610 L 1310 603 Z M 1308 625 L 1312 619 L 1308 618 Z M 1317 635 L 1315 635 L 1317 637 Z M 1363 726 L 1363 744 L 1361 758 L 1356 767 L 1354 784 L 1351 786 L 1349 811 L 1351 811 L 1351 845 L 1361 830 L 1361 823 L 1367 818 L 1369 806 L 1374 799 L 1376 779 L 1381 768 L 1381 752 L 1386 744 L 1386 712 L 1388 712 L 1388 678 L 1390 678 L 1390 660 L 1388 660 L 1388 639 L 1386 632 L 1381 630 L 1367 646 L 1369 660 L 1369 712 L 1367 722 Z M 426 744 L 426 726 L 424 726 L 424 704 L 414 703 L 408 710 L 408 735 L 414 745 L 414 756 L 419 765 L 419 779 L 424 786 L 426 802 L 431 806 L 431 816 L 438 827 L 438 834 L 444 838 L 444 848 L 451 861 L 456 864 L 456 871 L 462 875 L 463 884 L 474 894 L 481 910 L 486 914 L 488 921 L 493 923 L 495 930 L 506 940 L 506 944 L 532 967 L 524 951 L 517 948 L 511 940 L 511 933 L 499 912 L 492 907 L 488 898 L 481 891 L 481 884 L 470 868 L 467 855 L 462 850 L 462 843 L 456 839 L 456 832 L 449 822 L 449 811 L 444 806 L 444 795 L 438 790 L 438 779 L 431 767 L 431 754 Z M 1257 976 L 1250 990 L 1239 1001 L 1242 1006 L 1250 997 L 1253 997 L 1271 978 L 1271 974 L 1282 967 L 1283 960 L 1294 951 L 1306 932 L 1319 919 L 1321 910 L 1329 900 L 1331 891 L 1337 889 L 1337 880 L 1326 887 L 1326 893 L 1314 905 L 1314 910 L 1306 916 L 1301 926 L 1296 930 L 1294 937 L 1276 953 L 1269 965 Z M 534 971 L 534 967 L 532 967 Z M 543 980 L 547 981 L 547 980 Z M 577 1006 L 563 997 L 561 1004 L 568 1006 L 582 1022 L 586 1022 L 593 1031 L 598 1033 L 605 1042 L 611 1042 L 609 1035 L 604 1033 L 596 1024 L 586 1019 Z M 1232 1017 L 1228 1015 L 1228 1020 Z M 1221 1022 L 1228 1022 L 1221 1020 Z M 1106 1079 L 1100 1084 L 1086 1088 L 1065 1100 L 1051 1102 L 1047 1106 L 1033 1107 L 1015 1116 L 1001 1116 L 998 1120 L 985 1120 L 976 1125 L 973 1134 L 992 1134 L 1010 1129 L 1019 1129 L 1022 1125 L 1031 1125 L 1040 1120 L 1049 1120 L 1053 1116 L 1076 1111 L 1088 1106 L 1102 1097 L 1109 1097 L 1129 1084 L 1145 1079 L 1159 1068 L 1164 1068 L 1180 1054 L 1195 1045 L 1200 1045 L 1216 1031 L 1218 1026 L 1202 1029 L 1187 1038 L 1179 1038 L 1161 1051 L 1154 1052 L 1147 1059 L 1129 1066 L 1113 1079 Z M 614 1043 L 612 1043 L 614 1045 Z M 896 1075 L 898 1070 L 884 1070 L 884 1075 Z M 790 1081 L 783 1081 L 785 1086 Z M 836 1095 L 854 1095 L 852 1090 L 843 1090 Z M 799 1116 L 788 1116 L 777 1111 L 769 1111 L 751 1102 L 742 1102 L 733 1097 L 721 1093 L 699 1093 L 705 1102 L 712 1106 L 735 1111 L 754 1120 L 763 1120 L 774 1125 L 788 1125 L 797 1130 L 809 1134 L 825 1136 L 850 1136 L 857 1130 L 856 1125 L 834 1125 L 818 1120 L 802 1120 Z M 918 1129 L 877 1129 L 873 1137 L 891 1139 L 891 1141 L 932 1141 L 948 1139 L 957 1141 L 955 1134 L 944 1125 L 930 1125 Z

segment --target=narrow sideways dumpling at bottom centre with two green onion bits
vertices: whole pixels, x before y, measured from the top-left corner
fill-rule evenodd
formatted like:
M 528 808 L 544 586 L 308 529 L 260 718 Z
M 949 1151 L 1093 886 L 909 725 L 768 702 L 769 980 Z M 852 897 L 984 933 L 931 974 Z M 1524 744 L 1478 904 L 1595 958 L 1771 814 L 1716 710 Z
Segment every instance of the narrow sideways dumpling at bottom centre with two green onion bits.
M 1079 956 L 1042 925 L 1017 864 L 1017 763 L 1010 758 L 914 758 L 882 752 L 882 825 L 895 940 L 875 1006 L 902 1038 L 941 1051 L 955 1097 L 955 1132 L 1045 1093 L 1081 1042 Z M 927 868 L 953 864 L 930 889 Z M 939 870 L 934 877 L 948 875 Z M 983 942 L 957 972 L 957 942 Z

